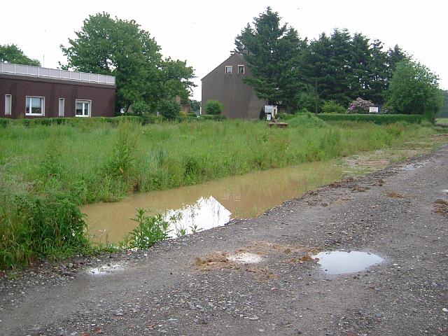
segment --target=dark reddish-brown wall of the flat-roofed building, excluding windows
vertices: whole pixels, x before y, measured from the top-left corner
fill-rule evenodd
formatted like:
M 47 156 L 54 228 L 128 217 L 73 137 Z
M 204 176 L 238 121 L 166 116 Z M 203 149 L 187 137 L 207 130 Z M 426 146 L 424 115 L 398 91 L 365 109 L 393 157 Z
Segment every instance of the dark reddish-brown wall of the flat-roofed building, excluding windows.
M 114 85 L 0 75 L 0 118 L 58 117 L 59 98 L 64 98 L 64 117 L 75 116 L 76 99 L 92 101 L 92 117 L 113 117 L 115 91 Z M 12 95 L 11 116 L 5 116 L 5 94 Z M 25 116 L 27 96 L 45 97 L 44 116 Z

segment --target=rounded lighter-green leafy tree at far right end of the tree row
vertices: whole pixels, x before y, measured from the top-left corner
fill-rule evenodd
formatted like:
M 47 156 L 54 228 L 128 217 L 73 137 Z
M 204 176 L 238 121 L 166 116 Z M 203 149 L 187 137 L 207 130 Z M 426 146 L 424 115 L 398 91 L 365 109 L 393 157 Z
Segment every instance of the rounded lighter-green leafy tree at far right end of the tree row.
M 442 104 L 435 73 L 408 59 L 397 64 L 386 94 L 389 109 L 395 113 L 423 114 L 432 120 Z

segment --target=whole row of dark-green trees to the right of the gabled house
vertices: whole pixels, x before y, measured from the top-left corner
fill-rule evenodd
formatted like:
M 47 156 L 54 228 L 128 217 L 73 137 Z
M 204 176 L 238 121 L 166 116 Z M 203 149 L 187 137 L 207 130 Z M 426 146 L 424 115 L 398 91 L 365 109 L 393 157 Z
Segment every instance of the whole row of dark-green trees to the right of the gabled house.
M 293 113 L 320 112 L 328 101 L 346 110 L 357 98 L 386 103 L 397 113 L 433 113 L 442 102 L 437 76 L 413 62 L 398 45 L 385 50 L 378 39 L 371 41 L 347 29 L 309 41 L 282 25 L 279 14 L 269 7 L 244 27 L 235 45 L 252 70 L 253 76 L 244 80 L 255 94 Z M 412 78 L 418 83 L 408 87 Z M 412 90 L 429 102 L 409 96 L 411 104 L 404 102 L 403 94 Z

